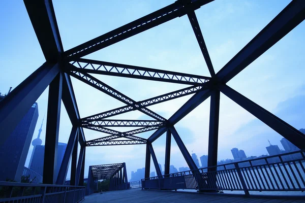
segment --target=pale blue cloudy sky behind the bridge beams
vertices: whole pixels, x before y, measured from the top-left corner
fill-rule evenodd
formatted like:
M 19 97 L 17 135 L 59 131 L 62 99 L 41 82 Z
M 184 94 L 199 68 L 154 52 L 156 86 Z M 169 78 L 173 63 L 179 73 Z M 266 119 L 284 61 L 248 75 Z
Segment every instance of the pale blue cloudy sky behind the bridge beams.
M 218 0 L 196 10 L 199 25 L 214 69 L 218 72 L 240 49 L 266 26 L 290 1 Z M 59 1 L 53 6 L 64 50 L 96 38 L 121 25 L 154 12 L 174 1 Z M 33 73 L 45 58 L 22 1 L 0 2 L 0 91 L 6 93 Z M 293 127 L 305 128 L 305 84 L 302 68 L 305 58 L 305 22 L 300 23 L 275 46 L 271 47 L 228 85 L 255 103 L 280 117 Z M 84 58 L 124 63 L 210 76 L 187 16 L 176 18 L 118 42 Z M 187 85 L 95 75 L 98 79 L 134 100 L 143 100 L 178 90 Z M 72 78 L 81 117 L 124 106 L 120 101 Z M 37 137 L 43 115 L 47 113 L 48 88 L 38 98 L 39 118 L 33 139 Z M 184 96 L 148 107 L 169 118 L 189 98 Z M 188 151 L 198 158 L 207 154 L 209 101 L 179 121 L 175 127 Z M 113 119 L 149 119 L 141 112 L 131 112 Z M 59 142 L 68 142 L 72 125 L 62 105 Z M 134 128 L 112 128 L 127 131 Z M 137 136 L 148 138 L 154 131 Z M 86 140 L 106 134 L 84 129 Z M 41 139 L 45 141 L 45 123 Z M 221 93 L 218 160 L 233 158 L 230 149 L 243 149 L 247 156 L 267 154 L 268 140 L 283 146 L 282 137 Z M 153 143 L 158 162 L 164 168 L 165 134 Z M 33 147 L 29 149 L 26 166 Z M 145 145 L 87 147 L 85 176 L 89 165 L 126 162 L 131 171 L 145 166 Z M 174 139 L 170 164 L 187 166 Z M 151 171 L 155 171 L 151 162 Z M 70 170 L 68 172 L 68 177 Z

